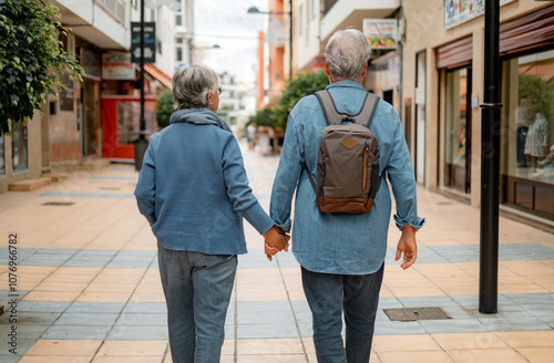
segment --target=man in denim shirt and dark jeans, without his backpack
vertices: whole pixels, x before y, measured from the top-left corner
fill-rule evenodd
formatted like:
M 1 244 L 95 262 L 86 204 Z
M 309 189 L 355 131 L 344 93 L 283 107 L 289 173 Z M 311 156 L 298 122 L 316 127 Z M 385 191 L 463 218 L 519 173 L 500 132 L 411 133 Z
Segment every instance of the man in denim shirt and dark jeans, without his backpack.
M 325 72 L 339 113 L 356 115 L 362 107 L 370 44 L 358 30 L 336 32 L 325 50 Z M 277 226 L 291 228 L 291 199 L 296 190 L 293 252 L 301 266 L 306 298 L 312 313 L 314 343 L 319 363 L 369 362 L 373 326 L 383 276 L 391 199 L 401 230 L 396 260 L 400 267 L 416 261 L 416 231 L 424 219 L 417 215 L 416 180 L 402 124 L 394 108 L 379 101 L 370 124 L 380 149 L 381 184 L 373 207 L 365 214 L 318 210 L 307 173 L 317 170 L 321 132 L 327 126 L 315 95 L 301 98 L 290 112 L 283 153 L 271 193 L 270 216 Z M 306 163 L 306 167 L 304 167 Z M 360 182 L 361 183 L 361 182 Z M 346 346 L 342 342 L 342 314 Z

